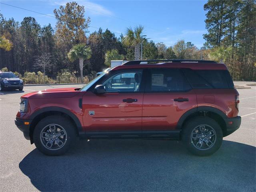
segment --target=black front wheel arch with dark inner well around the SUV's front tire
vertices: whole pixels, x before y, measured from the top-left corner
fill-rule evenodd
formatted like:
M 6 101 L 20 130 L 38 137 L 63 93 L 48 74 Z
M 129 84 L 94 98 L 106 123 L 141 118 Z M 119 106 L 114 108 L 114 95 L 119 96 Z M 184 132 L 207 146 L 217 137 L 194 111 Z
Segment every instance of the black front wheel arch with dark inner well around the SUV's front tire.
M 38 124 L 38 122 L 42 119 L 45 118 L 46 116 L 51 116 L 51 115 L 60 115 L 60 116 L 65 116 L 68 118 L 74 126 L 76 126 L 76 134 L 78 135 L 79 132 L 82 132 L 82 125 L 79 119 L 76 117 L 74 113 L 72 113 L 70 110 L 67 110 L 62 107 L 45 107 L 40 110 L 37 110 L 34 112 L 31 116 L 30 119 L 32 119 L 32 122 L 30 124 L 29 128 L 29 135 L 30 135 L 30 142 L 31 144 L 34 143 L 33 140 L 33 132 L 34 128 Z

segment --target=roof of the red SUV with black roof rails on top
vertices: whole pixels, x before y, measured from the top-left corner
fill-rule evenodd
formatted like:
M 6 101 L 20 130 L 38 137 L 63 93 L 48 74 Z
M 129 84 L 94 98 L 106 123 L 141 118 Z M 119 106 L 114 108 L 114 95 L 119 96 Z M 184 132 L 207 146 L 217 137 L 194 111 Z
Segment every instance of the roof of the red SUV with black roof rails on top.
M 159 62 L 161 61 L 161 62 Z M 164 61 L 164 62 L 162 62 Z M 165 62 L 166 61 L 166 62 Z M 152 64 L 140 64 L 140 62 L 152 62 Z M 154 63 L 155 62 L 155 63 Z M 148 61 L 130 61 L 112 70 L 130 69 L 130 68 L 190 68 L 194 70 L 227 70 L 225 64 L 214 61 L 204 60 L 148 60 Z

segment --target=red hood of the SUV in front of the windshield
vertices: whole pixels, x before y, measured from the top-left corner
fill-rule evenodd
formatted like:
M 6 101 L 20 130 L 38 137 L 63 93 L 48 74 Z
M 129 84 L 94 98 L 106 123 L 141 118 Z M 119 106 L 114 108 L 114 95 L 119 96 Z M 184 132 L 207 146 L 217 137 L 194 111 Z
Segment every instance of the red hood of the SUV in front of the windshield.
M 80 91 L 80 88 L 58 88 L 58 89 L 46 89 L 36 92 L 31 92 L 21 96 L 26 99 L 40 99 L 40 98 L 69 98 L 76 96 Z

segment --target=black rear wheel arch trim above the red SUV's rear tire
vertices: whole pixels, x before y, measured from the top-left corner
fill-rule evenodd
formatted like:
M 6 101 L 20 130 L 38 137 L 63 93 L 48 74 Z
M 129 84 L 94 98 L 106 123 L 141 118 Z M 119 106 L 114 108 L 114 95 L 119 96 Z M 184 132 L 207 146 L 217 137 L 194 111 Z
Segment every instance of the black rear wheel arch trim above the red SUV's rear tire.
M 224 121 L 225 118 L 228 118 L 224 112 L 221 110 L 210 107 L 210 106 L 200 106 L 200 107 L 195 107 L 190 110 L 188 110 L 186 113 L 184 113 L 178 123 L 177 123 L 177 129 L 182 130 L 182 127 L 184 124 L 190 120 L 193 117 L 196 116 L 208 116 L 215 120 L 220 127 L 222 128 L 223 131 L 223 136 L 226 135 L 226 123 Z

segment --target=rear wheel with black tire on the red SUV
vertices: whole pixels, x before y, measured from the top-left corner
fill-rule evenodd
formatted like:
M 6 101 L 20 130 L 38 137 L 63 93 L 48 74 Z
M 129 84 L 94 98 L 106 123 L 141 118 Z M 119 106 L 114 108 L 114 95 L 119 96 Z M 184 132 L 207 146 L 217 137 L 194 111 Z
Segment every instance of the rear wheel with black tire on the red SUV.
M 223 139 L 220 125 L 209 117 L 196 117 L 186 122 L 182 129 L 182 141 L 192 154 L 208 156 L 215 153 Z

